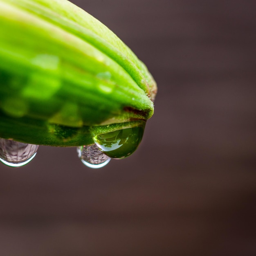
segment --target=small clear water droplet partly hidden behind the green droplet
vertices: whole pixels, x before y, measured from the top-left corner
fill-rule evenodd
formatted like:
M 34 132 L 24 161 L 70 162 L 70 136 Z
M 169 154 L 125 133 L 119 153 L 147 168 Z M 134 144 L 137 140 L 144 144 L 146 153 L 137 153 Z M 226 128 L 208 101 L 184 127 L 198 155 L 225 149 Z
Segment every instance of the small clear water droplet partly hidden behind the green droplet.
M 82 163 L 90 168 L 101 168 L 107 165 L 111 159 L 102 153 L 95 144 L 77 147 L 77 153 Z

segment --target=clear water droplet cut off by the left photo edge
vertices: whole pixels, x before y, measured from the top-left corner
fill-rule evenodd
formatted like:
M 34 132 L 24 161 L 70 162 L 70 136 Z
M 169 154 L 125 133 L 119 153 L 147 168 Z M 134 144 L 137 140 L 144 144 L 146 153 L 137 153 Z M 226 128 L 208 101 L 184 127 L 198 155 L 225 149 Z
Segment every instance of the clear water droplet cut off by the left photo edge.
M 11 167 L 30 162 L 36 155 L 38 145 L 0 138 L 0 161 Z

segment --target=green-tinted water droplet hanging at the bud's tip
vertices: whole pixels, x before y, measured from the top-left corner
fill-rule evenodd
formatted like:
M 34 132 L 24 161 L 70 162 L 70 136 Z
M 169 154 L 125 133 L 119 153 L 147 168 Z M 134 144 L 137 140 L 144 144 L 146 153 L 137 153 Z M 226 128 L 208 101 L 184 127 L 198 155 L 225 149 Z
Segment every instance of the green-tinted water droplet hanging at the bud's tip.
M 124 158 L 131 155 L 141 142 L 146 122 L 138 126 L 116 130 L 93 137 L 95 144 L 112 158 Z

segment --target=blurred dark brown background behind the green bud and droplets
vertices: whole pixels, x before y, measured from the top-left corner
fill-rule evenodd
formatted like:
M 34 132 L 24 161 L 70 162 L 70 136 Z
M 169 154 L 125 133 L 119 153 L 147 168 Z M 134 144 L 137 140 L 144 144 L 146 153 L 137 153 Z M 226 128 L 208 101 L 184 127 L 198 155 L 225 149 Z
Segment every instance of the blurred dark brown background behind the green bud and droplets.
M 256 2 L 74 0 L 146 63 L 155 115 L 127 159 L 41 146 L 0 166 L 0 256 L 255 256 Z

